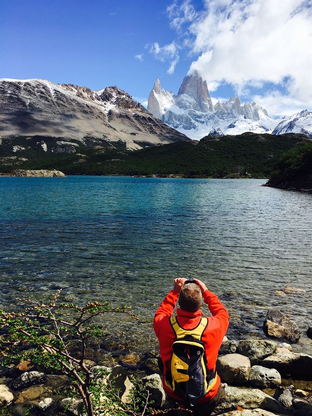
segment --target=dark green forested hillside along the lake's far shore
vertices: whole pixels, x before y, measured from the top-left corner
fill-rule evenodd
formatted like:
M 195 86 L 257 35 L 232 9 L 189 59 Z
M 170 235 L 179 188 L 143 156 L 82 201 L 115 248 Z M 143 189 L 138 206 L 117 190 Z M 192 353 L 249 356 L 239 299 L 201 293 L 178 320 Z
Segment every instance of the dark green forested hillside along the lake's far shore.
M 94 149 L 77 148 L 75 154 L 29 156 L 19 153 L 27 160 L 18 164 L 10 162 L 9 166 L 2 163 L 1 171 L 58 169 L 67 175 L 269 178 L 278 158 L 307 140 L 302 134 L 244 133 L 221 138 L 207 136 L 199 142 L 179 141 L 137 151 L 96 146 Z

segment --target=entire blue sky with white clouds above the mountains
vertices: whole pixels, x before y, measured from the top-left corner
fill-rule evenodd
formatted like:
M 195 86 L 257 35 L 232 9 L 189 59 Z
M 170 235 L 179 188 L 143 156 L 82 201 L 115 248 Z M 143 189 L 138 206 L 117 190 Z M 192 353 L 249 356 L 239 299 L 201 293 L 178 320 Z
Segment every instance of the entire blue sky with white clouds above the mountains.
M 192 68 L 215 99 L 289 114 L 311 106 L 309 19 L 310 0 L 0 0 L 0 78 L 143 101 L 157 78 L 176 93 Z

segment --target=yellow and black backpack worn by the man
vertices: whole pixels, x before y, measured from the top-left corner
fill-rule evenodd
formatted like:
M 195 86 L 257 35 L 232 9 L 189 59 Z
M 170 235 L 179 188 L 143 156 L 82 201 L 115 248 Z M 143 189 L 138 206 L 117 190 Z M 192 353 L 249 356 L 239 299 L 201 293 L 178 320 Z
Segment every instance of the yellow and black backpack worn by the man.
M 170 369 L 166 372 L 165 383 L 186 404 L 195 406 L 217 381 L 216 372 L 208 370 L 205 346 L 201 340 L 208 319 L 202 317 L 192 330 L 181 328 L 174 316 L 170 317 L 170 323 L 176 333 L 176 341 L 172 344 Z

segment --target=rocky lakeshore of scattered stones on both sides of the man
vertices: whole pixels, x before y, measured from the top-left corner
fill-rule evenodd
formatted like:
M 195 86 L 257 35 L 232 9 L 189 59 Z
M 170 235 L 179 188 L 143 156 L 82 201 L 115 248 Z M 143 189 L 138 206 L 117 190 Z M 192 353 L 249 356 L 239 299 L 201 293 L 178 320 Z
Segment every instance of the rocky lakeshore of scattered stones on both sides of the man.
M 268 312 L 263 328 L 271 339 L 235 341 L 224 337 L 216 370 L 227 397 L 213 416 L 312 416 L 312 356 L 292 351 L 292 344 L 300 337 L 296 324 L 273 310 Z M 307 336 L 312 338 L 311 327 Z M 125 342 L 120 339 L 114 344 L 90 345 L 85 364 L 91 373 L 104 377 L 105 383 L 116 383 L 121 403 L 130 400 L 135 377 L 154 401 L 157 414 L 191 414 L 183 413 L 178 405 L 168 411 L 158 369 L 158 345 L 144 353 L 124 350 L 123 354 Z M 83 415 L 82 400 L 68 395 L 70 384 L 67 376 L 49 374 L 44 360 L 37 366 L 29 361 L 2 366 L 0 414 Z

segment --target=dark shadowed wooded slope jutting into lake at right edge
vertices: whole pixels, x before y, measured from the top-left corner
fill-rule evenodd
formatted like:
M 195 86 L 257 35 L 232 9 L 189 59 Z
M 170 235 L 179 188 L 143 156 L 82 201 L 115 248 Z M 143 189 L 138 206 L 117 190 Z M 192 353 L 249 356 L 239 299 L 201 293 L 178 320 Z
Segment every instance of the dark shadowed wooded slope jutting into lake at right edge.
M 302 143 L 285 153 L 277 163 L 277 171 L 267 185 L 312 191 L 312 142 Z

